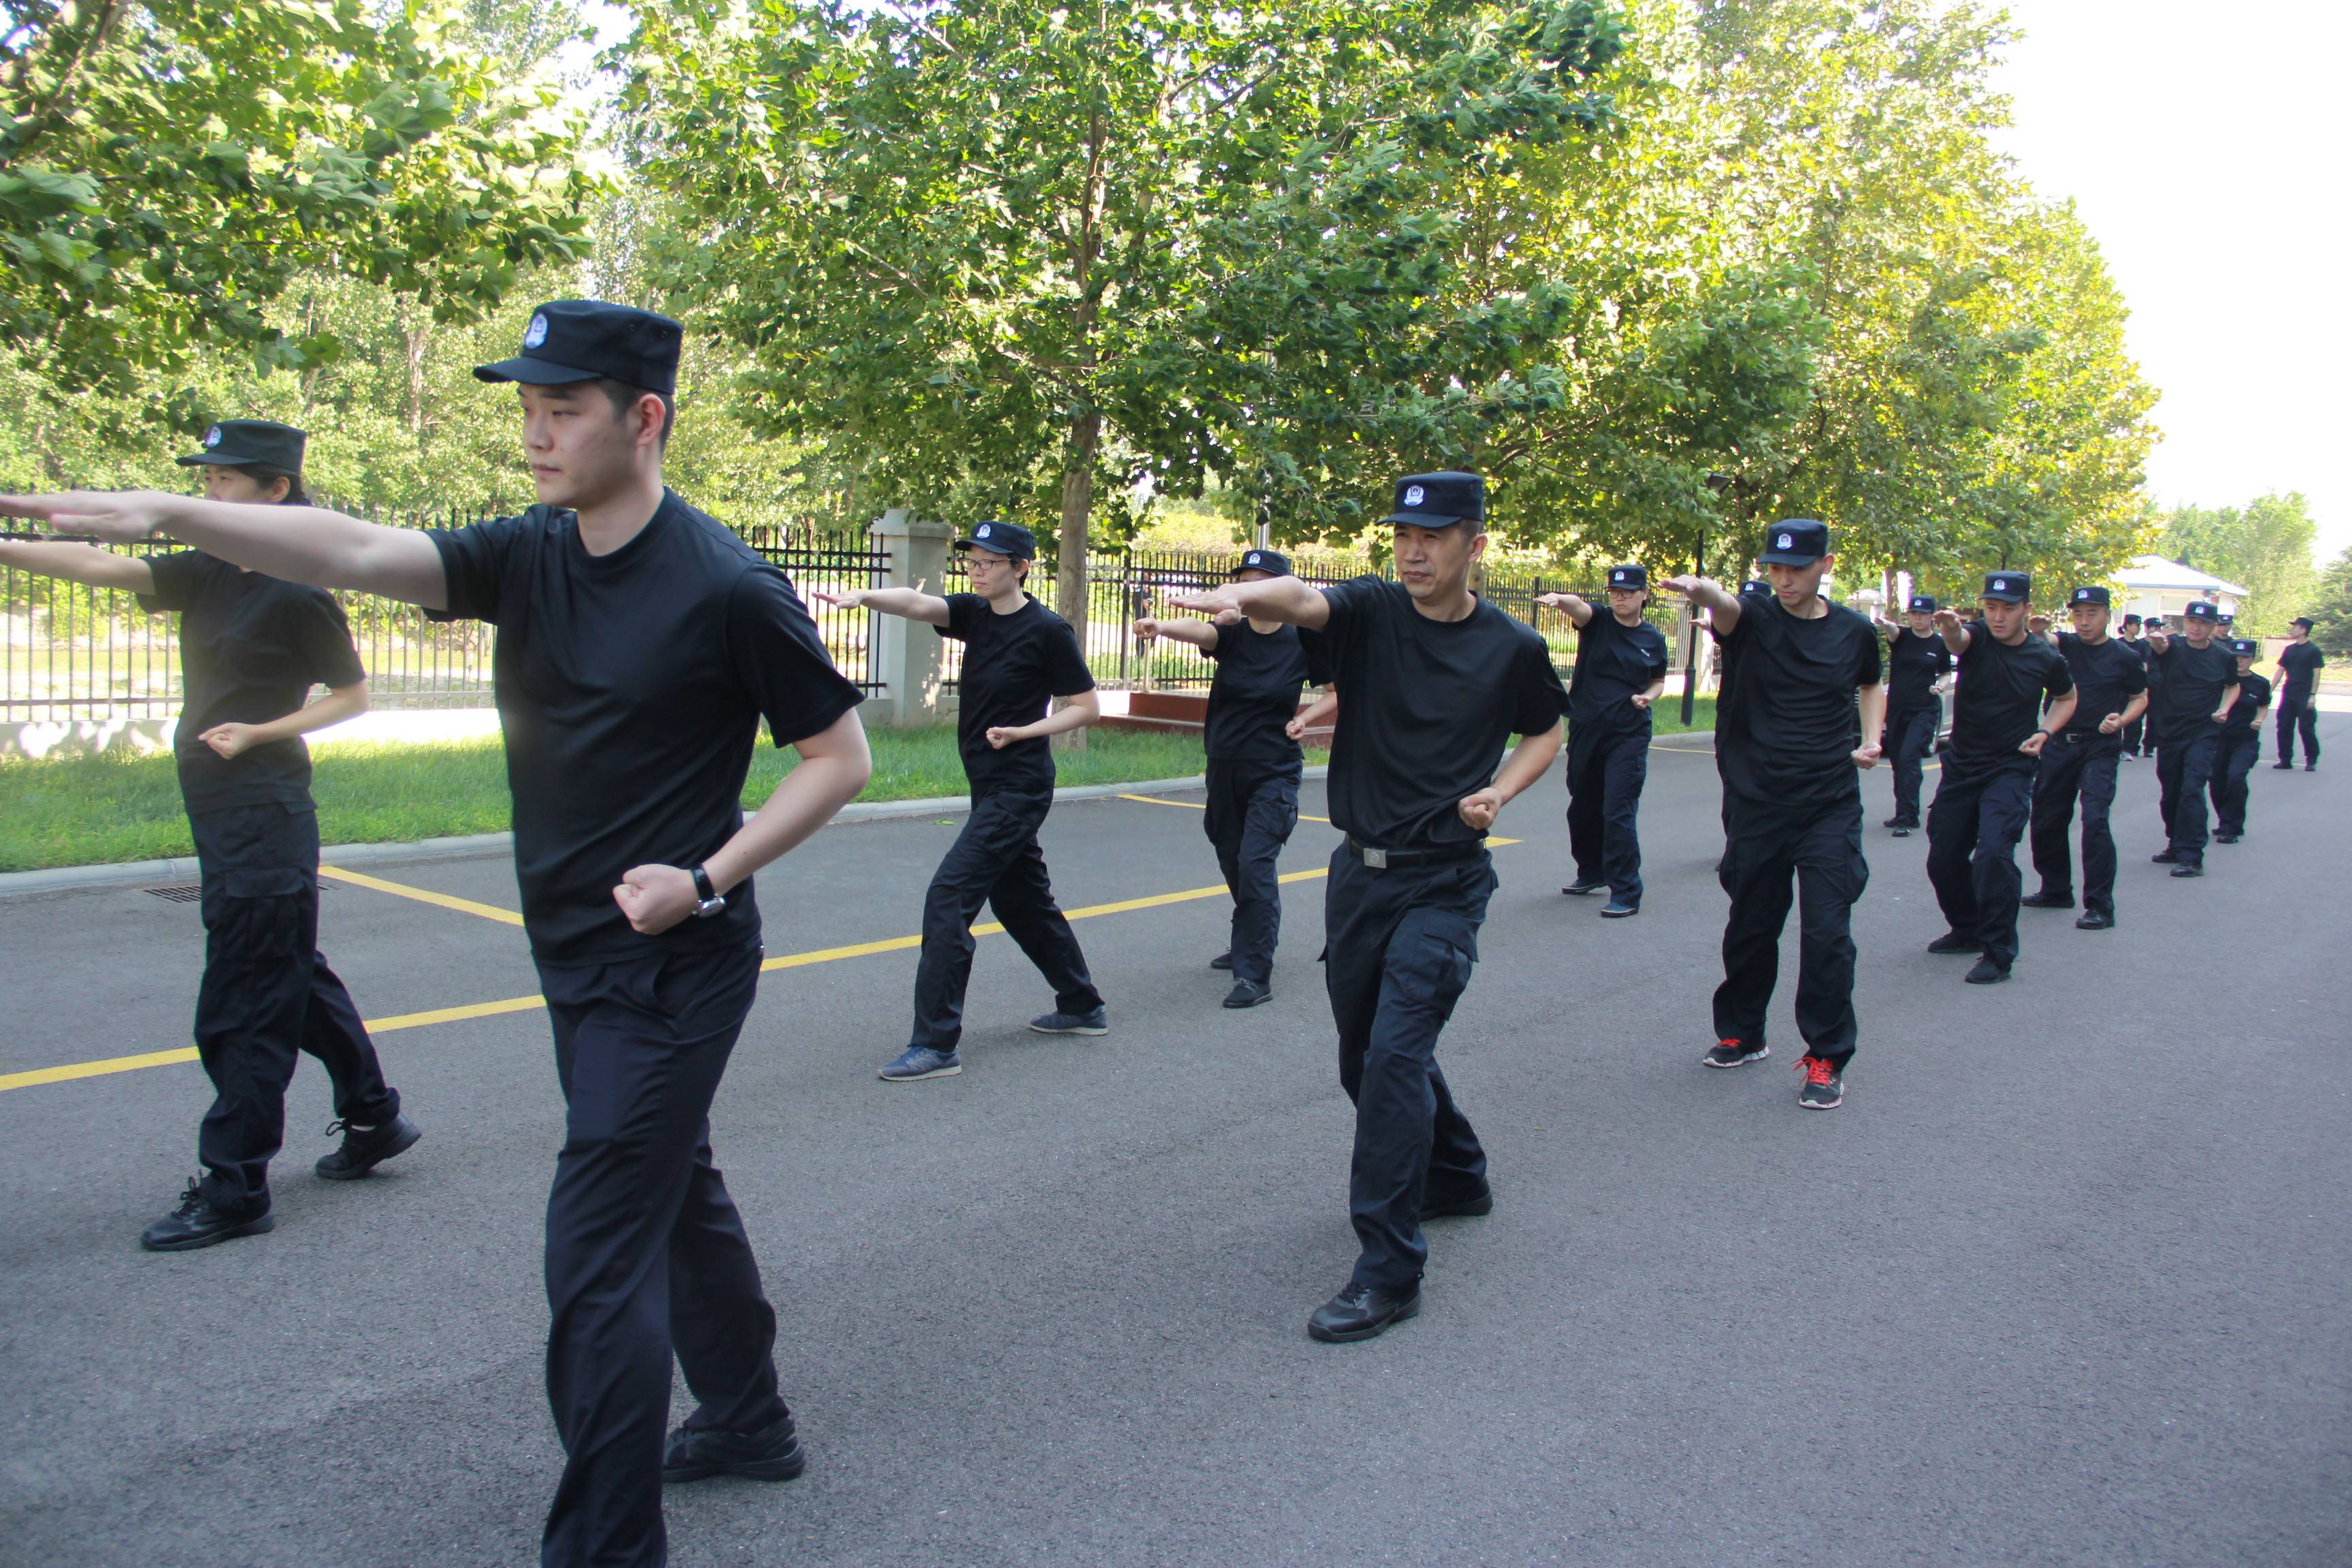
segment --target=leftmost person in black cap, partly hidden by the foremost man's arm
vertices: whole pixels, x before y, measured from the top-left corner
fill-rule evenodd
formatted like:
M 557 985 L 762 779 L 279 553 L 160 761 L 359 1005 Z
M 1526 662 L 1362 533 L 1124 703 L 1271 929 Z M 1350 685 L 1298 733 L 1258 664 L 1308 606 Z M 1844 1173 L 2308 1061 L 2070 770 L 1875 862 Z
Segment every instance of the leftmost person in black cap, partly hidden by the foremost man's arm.
M 306 437 L 268 418 L 223 418 L 202 451 L 205 496 L 308 505 Z M 318 588 L 240 571 L 202 550 L 136 559 L 92 545 L 0 543 L 0 564 L 139 595 L 179 611 L 186 705 L 179 790 L 205 884 L 205 978 L 195 1051 L 214 1100 L 198 1133 L 202 1175 L 139 1244 L 183 1253 L 278 1225 L 268 1168 L 285 1145 L 285 1093 L 310 1053 L 334 1084 L 343 1147 L 313 1171 L 367 1175 L 421 1135 L 383 1081 L 360 1009 L 318 950 L 318 804 L 303 736 L 367 712 L 367 670 L 343 607 Z M 310 686 L 327 696 L 308 703 Z

